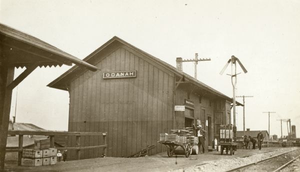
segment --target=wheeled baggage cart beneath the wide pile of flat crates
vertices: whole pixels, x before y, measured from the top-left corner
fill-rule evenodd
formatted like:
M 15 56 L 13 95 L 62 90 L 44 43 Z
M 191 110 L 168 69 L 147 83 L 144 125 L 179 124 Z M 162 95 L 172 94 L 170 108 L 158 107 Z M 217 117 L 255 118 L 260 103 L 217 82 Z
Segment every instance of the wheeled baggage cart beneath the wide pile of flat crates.
M 184 150 L 185 157 L 189 157 L 191 154 L 191 147 L 195 144 L 192 143 L 180 143 L 177 141 L 157 141 L 166 146 L 167 156 L 171 157 L 174 154 L 174 150 L 180 146 Z

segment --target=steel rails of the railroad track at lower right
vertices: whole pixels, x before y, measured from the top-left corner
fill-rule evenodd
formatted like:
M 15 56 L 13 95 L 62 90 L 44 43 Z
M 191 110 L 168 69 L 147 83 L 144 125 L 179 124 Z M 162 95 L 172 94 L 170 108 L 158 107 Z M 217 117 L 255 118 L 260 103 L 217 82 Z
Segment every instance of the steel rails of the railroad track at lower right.
M 251 163 L 248 163 L 248 164 L 245 164 L 245 165 L 241 165 L 241 166 L 238 166 L 238 167 L 235 167 L 235 168 L 232 168 L 232 169 L 229 169 L 229 170 L 226 170 L 225 172 L 229 172 L 229 171 L 242 171 L 242 169 L 247 169 L 248 167 L 252 166 L 252 165 L 256 165 L 257 163 L 261 163 L 263 161 L 266 161 L 266 160 L 269 160 L 269 159 L 272 159 L 272 158 L 275 158 L 275 157 L 278 157 L 278 156 L 281 156 L 283 154 L 286 154 L 286 153 L 289 153 L 289 152 L 292 152 L 292 151 L 297 151 L 299 149 L 294 149 L 294 150 L 290 150 L 290 151 L 287 151 L 287 152 L 284 152 L 284 153 L 280 153 L 280 154 L 277 154 L 275 156 L 271 156 L 271 157 L 268 157 L 268 158 L 265 158 L 265 159 L 261 159 L 261 160 L 258 160 L 258 161 L 255 161 L 255 162 L 251 162 Z M 288 161 L 287 163 L 283 164 L 282 166 L 280 166 L 279 168 L 275 169 L 274 171 L 272 172 L 277 172 L 279 171 L 280 169 L 284 168 L 285 166 L 287 166 L 289 163 L 293 162 L 294 160 L 296 160 L 297 158 L 299 158 L 299 156 L 293 158 L 292 160 Z

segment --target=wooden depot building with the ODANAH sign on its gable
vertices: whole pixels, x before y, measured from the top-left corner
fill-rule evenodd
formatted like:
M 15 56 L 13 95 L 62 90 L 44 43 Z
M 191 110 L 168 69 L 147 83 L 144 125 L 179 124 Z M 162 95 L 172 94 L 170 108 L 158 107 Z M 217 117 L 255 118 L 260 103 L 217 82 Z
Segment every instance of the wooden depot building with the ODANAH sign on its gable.
M 196 119 L 208 131 L 207 150 L 219 125 L 228 123 L 232 98 L 182 72 L 180 64 L 175 68 L 116 36 L 83 60 L 100 70 L 73 66 L 48 86 L 69 92 L 68 131 L 108 132 L 107 156 L 126 157 L 153 144 L 149 154 L 166 151 L 157 143 L 159 134 Z M 83 137 L 80 145 L 100 141 Z M 68 138 L 69 146 L 75 143 Z M 101 151 L 81 151 L 81 158 Z

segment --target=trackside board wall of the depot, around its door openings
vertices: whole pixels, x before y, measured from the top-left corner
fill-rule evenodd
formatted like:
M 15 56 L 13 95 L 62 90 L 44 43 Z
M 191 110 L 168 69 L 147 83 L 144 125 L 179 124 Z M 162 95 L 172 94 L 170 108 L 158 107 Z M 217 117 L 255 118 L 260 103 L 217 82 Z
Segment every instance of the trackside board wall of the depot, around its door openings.
M 209 97 L 200 97 L 196 94 L 190 94 L 188 97 L 188 89 L 183 86 L 179 86 L 174 92 L 174 105 L 184 105 L 184 99 L 189 99 L 194 102 L 194 119 L 200 119 L 203 128 L 208 131 L 205 125 L 205 120 L 208 120 L 208 116 L 211 117 L 211 140 L 208 140 L 208 133 L 206 132 L 205 150 L 207 150 L 208 141 L 212 141 L 214 138 L 214 113 L 213 113 L 213 101 L 209 100 Z M 184 127 L 184 111 L 175 111 L 175 128 Z

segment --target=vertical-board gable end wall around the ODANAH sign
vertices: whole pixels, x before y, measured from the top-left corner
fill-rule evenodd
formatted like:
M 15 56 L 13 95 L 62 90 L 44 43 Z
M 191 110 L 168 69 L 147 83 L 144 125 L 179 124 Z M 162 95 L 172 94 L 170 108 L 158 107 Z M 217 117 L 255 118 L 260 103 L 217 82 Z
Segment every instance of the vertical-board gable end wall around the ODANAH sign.
M 70 83 L 68 131 L 107 131 L 107 156 L 126 157 L 153 144 L 149 154 L 165 151 L 156 142 L 159 133 L 173 128 L 174 74 L 126 46 L 95 55 L 101 70 L 85 71 Z M 137 76 L 102 78 L 104 71 L 121 70 L 136 70 Z M 82 146 L 101 143 L 100 137 L 80 139 Z M 68 144 L 74 146 L 75 138 L 69 137 Z M 99 148 L 83 150 L 81 158 L 101 154 Z

